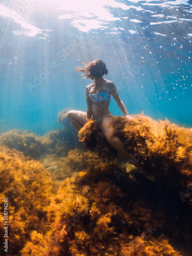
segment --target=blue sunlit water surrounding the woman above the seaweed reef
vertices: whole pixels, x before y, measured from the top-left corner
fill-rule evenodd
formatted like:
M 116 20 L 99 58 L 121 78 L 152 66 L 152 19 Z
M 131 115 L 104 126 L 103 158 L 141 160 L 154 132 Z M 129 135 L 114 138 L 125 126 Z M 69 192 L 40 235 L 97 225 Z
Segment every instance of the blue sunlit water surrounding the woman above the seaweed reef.
M 75 67 L 94 59 L 129 114 L 191 127 L 191 12 L 182 0 L 1 1 L 0 133 L 45 134 L 64 108 L 86 111 L 91 80 Z

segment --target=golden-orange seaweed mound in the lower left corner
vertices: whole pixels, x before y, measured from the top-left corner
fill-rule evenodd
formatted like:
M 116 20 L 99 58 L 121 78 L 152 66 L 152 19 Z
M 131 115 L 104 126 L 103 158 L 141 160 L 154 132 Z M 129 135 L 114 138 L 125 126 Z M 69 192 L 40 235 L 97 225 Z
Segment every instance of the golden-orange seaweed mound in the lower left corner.
M 46 207 L 57 187 L 54 177 L 39 162 L 6 147 L 0 147 L 0 184 L 0 237 L 4 241 L 4 198 L 8 198 L 8 247 L 12 255 L 23 248 L 31 230 L 48 230 Z

